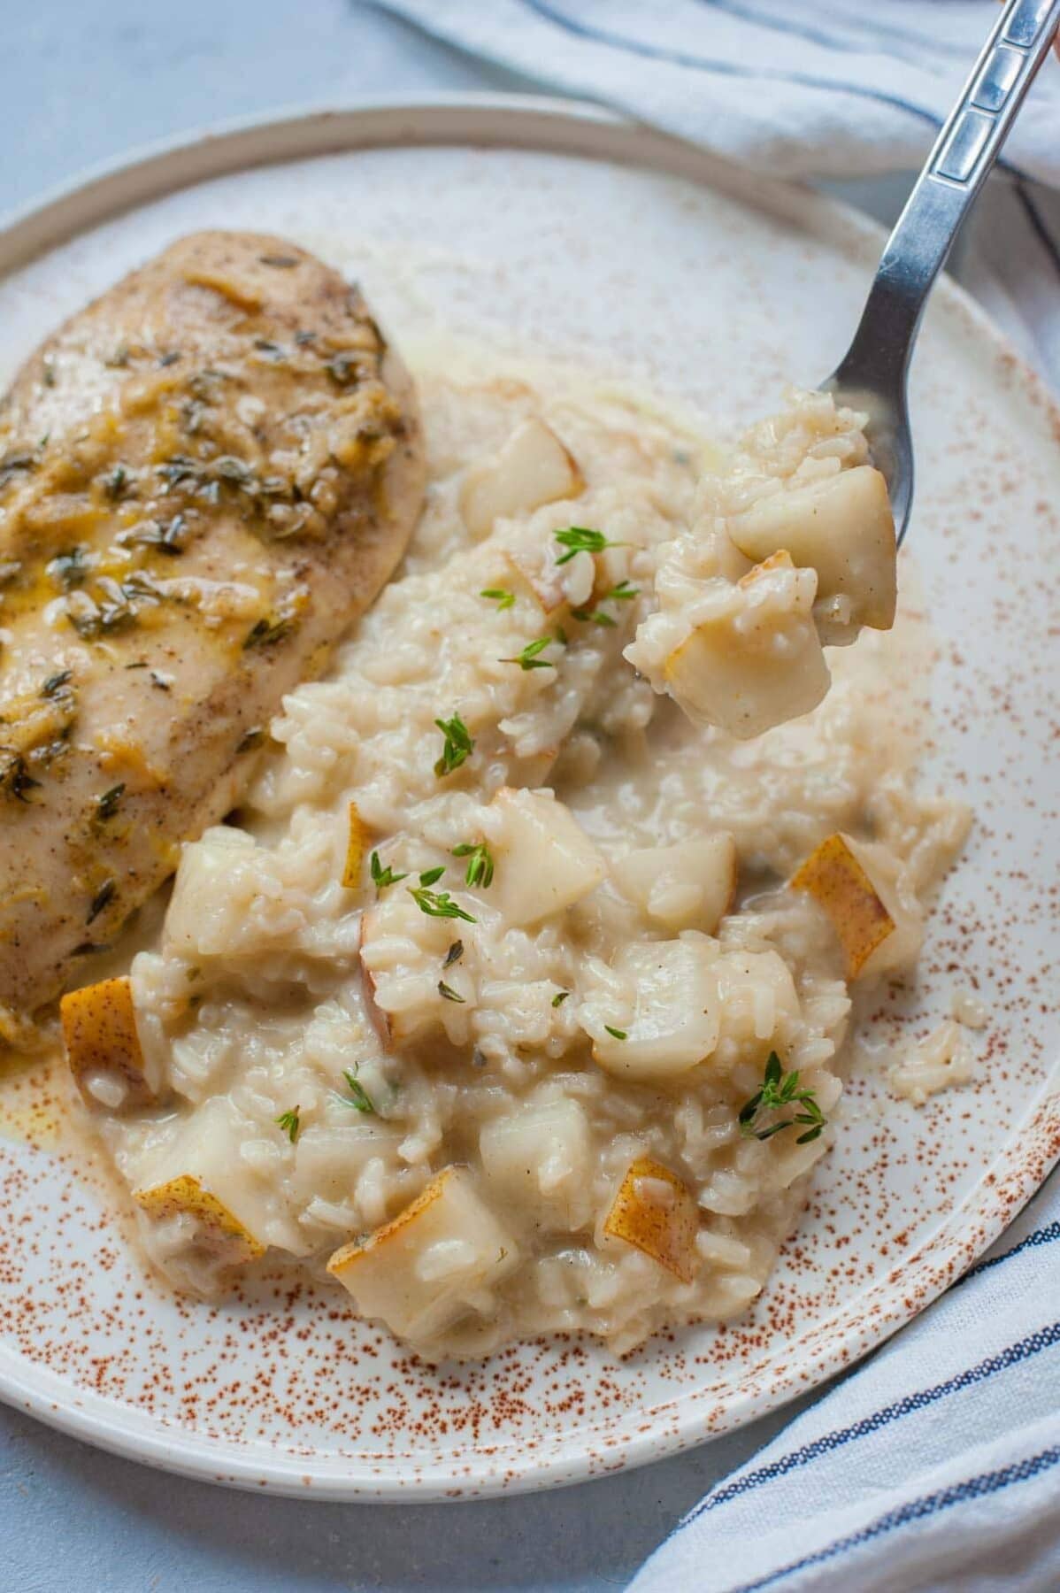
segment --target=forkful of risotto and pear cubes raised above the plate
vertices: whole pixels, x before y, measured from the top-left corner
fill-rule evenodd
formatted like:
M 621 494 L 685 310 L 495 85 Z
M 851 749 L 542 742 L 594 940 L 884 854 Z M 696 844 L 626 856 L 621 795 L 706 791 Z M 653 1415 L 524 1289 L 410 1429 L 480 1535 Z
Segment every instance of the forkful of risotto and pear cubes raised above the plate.
M 867 416 L 796 393 L 705 476 L 697 515 L 656 570 L 657 610 L 625 650 L 699 723 L 742 739 L 809 714 L 824 647 L 888 631 L 898 548 Z

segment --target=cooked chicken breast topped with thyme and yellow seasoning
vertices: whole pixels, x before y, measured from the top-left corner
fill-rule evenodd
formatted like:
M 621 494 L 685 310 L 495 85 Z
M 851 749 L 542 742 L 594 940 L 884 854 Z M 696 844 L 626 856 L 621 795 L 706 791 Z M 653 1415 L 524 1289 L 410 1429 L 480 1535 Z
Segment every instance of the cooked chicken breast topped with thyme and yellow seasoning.
M 245 233 L 173 244 L 0 409 L 0 1037 L 236 803 L 271 714 L 398 564 L 412 386 L 357 288 Z

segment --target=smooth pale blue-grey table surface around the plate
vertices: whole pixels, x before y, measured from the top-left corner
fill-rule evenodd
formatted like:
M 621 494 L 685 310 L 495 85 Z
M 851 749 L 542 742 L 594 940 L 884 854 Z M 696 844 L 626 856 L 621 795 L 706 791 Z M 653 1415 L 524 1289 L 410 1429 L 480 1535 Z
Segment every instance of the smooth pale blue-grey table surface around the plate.
M 444 0 L 439 0 L 444 3 Z M 533 88 L 353 0 L 30 0 L 5 11 L 0 210 L 170 134 L 379 92 Z M 894 188 L 855 191 L 877 212 Z M 228 1493 L 0 1407 L 3 1593 L 624 1587 L 703 1491 L 794 1413 L 560 1493 L 337 1505 Z

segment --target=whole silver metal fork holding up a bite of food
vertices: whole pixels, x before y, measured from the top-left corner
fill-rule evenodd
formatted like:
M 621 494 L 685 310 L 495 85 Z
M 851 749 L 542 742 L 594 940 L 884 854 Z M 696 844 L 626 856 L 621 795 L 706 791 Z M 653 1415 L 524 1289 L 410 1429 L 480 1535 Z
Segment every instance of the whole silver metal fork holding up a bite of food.
M 821 382 L 869 414 L 901 545 L 914 494 L 907 374 L 928 293 L 1060 25 L 1060 0 L 1009 0 L 887 241 L 850 349 Z M 1060 139 L 1060 127 L 1057 129 Z

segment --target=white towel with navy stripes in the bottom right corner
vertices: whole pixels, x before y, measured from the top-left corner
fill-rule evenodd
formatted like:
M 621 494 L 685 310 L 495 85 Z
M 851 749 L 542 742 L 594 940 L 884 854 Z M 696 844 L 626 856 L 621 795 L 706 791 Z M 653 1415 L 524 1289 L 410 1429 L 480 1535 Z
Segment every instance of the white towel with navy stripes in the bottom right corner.
M 726 1477 L 630 1593 L 1060 1588 L 1060 1174 L 910 1327 Z

